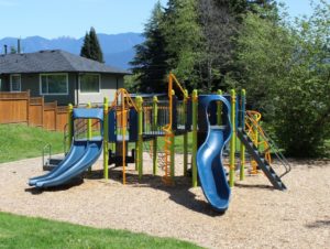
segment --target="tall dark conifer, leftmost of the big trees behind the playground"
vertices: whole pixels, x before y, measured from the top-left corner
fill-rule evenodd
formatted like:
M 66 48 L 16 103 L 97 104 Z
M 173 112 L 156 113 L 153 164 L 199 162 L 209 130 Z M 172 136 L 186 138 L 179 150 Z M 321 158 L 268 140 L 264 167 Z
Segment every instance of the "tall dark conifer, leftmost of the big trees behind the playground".
M 135 46 L 135 57 L 130 63 L 136 75 L 139 90 L 164 91 L 166 88 L 166 74 L 168 73 L 165 39 L 161 30 L 164 21 L 164 11 L 157 2 L 152 17 L 145 24 L 145 41 Z

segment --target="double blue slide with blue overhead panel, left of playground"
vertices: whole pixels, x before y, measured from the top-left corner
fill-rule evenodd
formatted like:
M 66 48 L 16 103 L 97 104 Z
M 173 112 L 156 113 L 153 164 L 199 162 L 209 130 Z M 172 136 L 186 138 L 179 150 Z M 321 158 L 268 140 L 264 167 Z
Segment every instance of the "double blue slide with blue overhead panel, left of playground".
M 94 118 L 102 121 L 102 109 L 75 109 L 74 119 Z M 80 175 L 102 153 L 102 139 L 74 140 L 70 151 L 54 170 L 45 175 L 30 178 L 29 185 L 38 188 L 59 186 Z

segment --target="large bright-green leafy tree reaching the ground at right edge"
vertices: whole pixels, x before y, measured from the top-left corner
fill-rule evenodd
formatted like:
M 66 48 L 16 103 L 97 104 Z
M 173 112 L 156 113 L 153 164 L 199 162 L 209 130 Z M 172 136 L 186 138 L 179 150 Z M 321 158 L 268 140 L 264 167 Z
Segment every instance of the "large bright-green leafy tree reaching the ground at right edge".
M 292 155 L 316 156 L 330 137 L 330 4 L 296 26 L 249 13 L 237 63 L 250 102 Z

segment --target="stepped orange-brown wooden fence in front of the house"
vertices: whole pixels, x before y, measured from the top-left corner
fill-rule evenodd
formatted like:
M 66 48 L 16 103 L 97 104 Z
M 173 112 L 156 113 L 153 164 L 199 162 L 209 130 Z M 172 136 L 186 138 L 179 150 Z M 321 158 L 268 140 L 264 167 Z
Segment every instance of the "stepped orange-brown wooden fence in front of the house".
M 0 93 L 0 123 L 28 123 L 51 131 L 63 131 L 67 123 L 67 107 L 43 97 L 30 97 L 30 91 Z

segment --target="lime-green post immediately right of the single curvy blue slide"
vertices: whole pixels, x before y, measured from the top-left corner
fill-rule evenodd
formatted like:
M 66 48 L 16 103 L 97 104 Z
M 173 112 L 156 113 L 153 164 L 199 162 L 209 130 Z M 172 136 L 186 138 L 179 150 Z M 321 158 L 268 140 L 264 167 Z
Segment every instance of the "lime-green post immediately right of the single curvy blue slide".
M 230 112 L 230 121 L 232 126 L 232 136 L 230 140 L 230 163 L 229 163 L 229 185 L 231 187 L 234 186 L 234 174 L 235 174 L 235 138 L 237 138 L 237 124 L 235 124 L 235 105 L 237 105 L 237 96 L 235 90 L 232 89 L 230 91 L 231 96 L 231 112 Z

